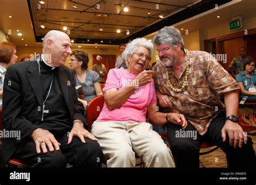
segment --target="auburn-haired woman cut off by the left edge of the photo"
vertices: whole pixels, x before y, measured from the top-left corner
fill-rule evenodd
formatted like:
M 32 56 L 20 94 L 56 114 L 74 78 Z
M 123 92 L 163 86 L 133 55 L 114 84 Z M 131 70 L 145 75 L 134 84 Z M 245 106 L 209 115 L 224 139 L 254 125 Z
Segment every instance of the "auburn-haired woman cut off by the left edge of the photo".
M 12 43 L 0 42 L 0 107 L 2 107 L 3 85 L 6 69 L 17 61 L 16 46 Z

